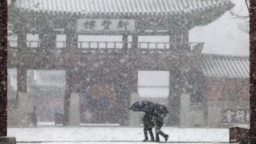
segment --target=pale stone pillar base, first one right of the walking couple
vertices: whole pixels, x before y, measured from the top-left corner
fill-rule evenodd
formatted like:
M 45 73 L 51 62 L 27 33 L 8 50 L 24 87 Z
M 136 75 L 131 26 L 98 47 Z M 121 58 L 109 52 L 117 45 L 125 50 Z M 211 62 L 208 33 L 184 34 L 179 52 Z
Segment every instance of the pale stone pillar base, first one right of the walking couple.
M 181 94 L 180 126 L 192 126 L 192 118 L 190 115 L 190 94 Z

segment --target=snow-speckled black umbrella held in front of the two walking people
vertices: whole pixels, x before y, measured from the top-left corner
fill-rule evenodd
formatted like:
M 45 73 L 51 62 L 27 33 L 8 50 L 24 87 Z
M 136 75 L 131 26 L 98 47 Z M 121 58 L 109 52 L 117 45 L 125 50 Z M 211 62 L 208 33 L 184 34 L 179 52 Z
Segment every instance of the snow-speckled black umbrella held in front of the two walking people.
M 157 104 L 151 101 L 137 101 L 129 109 L 133 111 L 153 112 Z

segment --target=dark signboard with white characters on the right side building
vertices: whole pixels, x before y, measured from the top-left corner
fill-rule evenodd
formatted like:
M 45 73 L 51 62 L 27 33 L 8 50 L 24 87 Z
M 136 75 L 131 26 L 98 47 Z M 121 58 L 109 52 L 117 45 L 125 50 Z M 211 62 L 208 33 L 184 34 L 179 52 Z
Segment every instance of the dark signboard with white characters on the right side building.
M 249 109 L 223 109 L 222 111 L 223 122 L 230 124 L 247 124 L 249 115 Z

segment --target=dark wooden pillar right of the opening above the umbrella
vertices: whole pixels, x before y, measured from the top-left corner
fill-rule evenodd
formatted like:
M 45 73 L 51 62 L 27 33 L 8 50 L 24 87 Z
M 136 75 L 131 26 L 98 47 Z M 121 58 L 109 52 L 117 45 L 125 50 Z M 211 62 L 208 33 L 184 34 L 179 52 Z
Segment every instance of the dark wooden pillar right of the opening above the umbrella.
M 179 107 L 181 103 L 181 69 L 173 67 L 169 71 L 169 126 L 179 126 Z

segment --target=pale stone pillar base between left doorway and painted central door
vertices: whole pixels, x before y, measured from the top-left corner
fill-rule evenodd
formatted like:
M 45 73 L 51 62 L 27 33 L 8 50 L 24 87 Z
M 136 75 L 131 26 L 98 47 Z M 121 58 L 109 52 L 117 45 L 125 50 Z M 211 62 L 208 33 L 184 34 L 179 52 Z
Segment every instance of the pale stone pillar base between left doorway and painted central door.
M 80 124 L 80 111 L 79 111 L 79 93 L 70 94 L 70 115 L 69 115 L 69 125 L 79 126 Z

